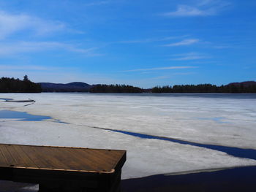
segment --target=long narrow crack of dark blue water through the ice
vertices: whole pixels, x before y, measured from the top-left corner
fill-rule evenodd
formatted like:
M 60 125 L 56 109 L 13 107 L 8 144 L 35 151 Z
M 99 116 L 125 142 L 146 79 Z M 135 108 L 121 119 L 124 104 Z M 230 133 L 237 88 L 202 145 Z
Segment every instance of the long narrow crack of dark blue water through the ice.
M 169 142 L 177 142 L 177 143 L 183 144 L 183 145 L 193 145 L 193 146 L 197 146 L 197 147 L 205 147 L 205 148 L 208 148 L 211 150 L 219 150 L 219 151 L 225 152 L 229 155 L 233 155 L 233 156 L 236 156 L 239 158 L 252 158 L 252 159 L 256 160 L 256 150 L 253 150 L 253 149 L 241 149 L 238 147 L 226 147 L 226 146 L 221 146 L 221 145 L 206 145 L 206 144 L 201 144 L 201 143 L 196 143 L 196 142 L 187 142 L 187 141 L 183 141 L 183 140 L 179 140 L 179 139 L 172 139 L 170 137 L 158 137 L 158 136 L 154 136 L 154 135 L 138 134 L 138 133 L 134 133 L 134 132 L 120 131 L 120 130 L 109 129 L 109 128 L 101 128 L 101 129 L 114 131 L 114 132 L 118 132 L 118 133 L 122 133 L 122 134 L 128 134 L 128 135 L 132 135 L 134 137 L 140 137 L 143 139 L 160 139 L 160 140 L 165 140 L 165 141 L 169 141 Z

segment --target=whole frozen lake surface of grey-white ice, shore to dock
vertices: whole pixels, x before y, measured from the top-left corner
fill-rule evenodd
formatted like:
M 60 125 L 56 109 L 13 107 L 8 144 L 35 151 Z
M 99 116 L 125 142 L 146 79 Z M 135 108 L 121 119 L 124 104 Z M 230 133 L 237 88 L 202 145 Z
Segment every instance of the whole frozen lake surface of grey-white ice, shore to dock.
M 0 142 L 127 150 L 124 179 L 250 166 L 249 156 L 206 145 L 253 153 L 255 106 L 256 94 L 2 93 Z

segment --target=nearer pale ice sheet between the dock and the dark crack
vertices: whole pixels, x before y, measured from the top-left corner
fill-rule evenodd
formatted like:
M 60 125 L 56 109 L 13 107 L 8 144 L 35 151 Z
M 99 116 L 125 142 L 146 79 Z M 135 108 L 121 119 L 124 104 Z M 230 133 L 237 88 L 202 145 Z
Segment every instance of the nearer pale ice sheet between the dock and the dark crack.
M 181 145 L 157 139 L 139 139 L 112 131 L 53 122 L 1 123 L 1 142 L 127 150 L 123 178 L 184 172 L 227 166 L 254 165 L 256 161 L 234 158 L 217 150 Z

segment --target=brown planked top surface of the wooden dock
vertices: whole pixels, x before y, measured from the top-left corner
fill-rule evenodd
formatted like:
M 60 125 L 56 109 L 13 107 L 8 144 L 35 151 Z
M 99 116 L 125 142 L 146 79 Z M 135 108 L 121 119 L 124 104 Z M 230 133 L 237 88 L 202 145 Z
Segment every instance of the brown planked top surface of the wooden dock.
M 124 150 L 0 144 L 0 166 L 111 172 L 125 154 Z

